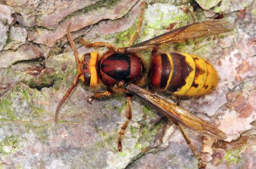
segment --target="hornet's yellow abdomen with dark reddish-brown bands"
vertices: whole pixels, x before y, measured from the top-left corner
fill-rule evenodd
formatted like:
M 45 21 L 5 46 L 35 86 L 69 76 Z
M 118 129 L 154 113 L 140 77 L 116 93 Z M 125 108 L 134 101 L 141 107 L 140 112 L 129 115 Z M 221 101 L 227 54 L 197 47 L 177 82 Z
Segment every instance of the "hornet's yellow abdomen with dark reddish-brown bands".
M 210 93 L 218 82 L 218 74 L 212 65 L 187 53 L 154 55 L 149 75 L 153 87 L 180 96 Z

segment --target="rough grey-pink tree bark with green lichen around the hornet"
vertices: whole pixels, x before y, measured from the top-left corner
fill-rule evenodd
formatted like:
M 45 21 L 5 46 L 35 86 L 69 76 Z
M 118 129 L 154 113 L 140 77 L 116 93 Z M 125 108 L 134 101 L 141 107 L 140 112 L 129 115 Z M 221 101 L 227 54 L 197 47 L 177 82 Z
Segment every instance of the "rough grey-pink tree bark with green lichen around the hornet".
M 123 96 L 88 104 L 92 91 L 79 83 L 60 109 L 59 100 L 76 72 L 66 37 L 68 23 L 79 56 L 94 49 L 78 38 L 125 46 L 136 30 L 141 1 L 0 1 L 0 168 L 196 168 L 179 129 L 137 98 L 133 118 L 116 151 L 125 122 Z M 146 1 L 136 42 L 218 14 L 234 31 L 162 46 L 160 51 L 194 53 L 219 72 L 217 89 L 180 105 L 227 133 L 225 141 L 185 130 L 208 168 L 253 168 L 255 158 L 254 1 Z M 104 49 L 98 49 L 103 52 Z M 141 56 L 148 65 L 150 50 Z M 163 95 L 165 96 L 165 95 Z M 165 96 L 166 99 L 171 99 Z M 202 146 L 203 145 L 203 146 Z

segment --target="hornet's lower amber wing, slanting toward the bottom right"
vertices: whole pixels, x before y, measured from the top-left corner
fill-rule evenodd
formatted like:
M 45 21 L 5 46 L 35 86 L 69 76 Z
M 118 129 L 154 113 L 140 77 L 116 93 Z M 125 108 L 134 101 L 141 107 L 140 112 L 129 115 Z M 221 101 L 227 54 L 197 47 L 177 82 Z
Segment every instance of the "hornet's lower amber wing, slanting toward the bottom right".
M 212 138 L 227 138 L 226 134 L 215 126 L 212 126 L 208 122 L 191 114 L 189 111 L 162 99 L 156 94 L 145 91 L 144 89 L 141 89 L 133 84 L 127 84 L 125 88 L 129 93 L 138 96 L 153 108 L 161 112 L 167 118 L 174 120 L 189 129 L 195 130 L 205 136 Z

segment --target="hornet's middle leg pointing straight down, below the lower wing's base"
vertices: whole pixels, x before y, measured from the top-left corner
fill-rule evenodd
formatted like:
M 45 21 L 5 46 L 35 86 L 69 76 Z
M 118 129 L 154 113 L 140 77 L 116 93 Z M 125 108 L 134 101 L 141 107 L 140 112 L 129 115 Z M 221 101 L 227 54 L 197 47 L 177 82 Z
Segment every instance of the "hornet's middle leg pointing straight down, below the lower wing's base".
M 120 131 L 118 133 L 118 136 L 117 136 L 117 142 L 118 142 L 117 150 L 118 151 L 122 151 L 122 139 L 123 139 L 124 131 L 127 128 L 128 123 L 132 119 L 131 98 L 132 98 L 131 94 L 127 94 L 126 95 L 126 104 L 127 104 L 126 118 L 127 118 L 127 120 L 122 125 L 122 127 L 121 127 L 121 129 L 120 129 Z

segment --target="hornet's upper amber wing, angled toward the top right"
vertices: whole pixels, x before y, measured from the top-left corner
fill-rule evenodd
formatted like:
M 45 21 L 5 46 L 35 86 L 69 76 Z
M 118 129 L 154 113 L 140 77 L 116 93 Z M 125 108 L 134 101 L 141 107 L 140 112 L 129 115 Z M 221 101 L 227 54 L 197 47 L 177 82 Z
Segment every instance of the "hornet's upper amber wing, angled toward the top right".
M 125 48 L 127 52 L 135 52 L 143 49 L 154 48 L 168 42 L 183 42 L 202 36 L 215 35 L 233 30 L 233 25 L 225 20 L 208 20 L 188 24 L 173 31 L 159 35 L 150 40 Z

